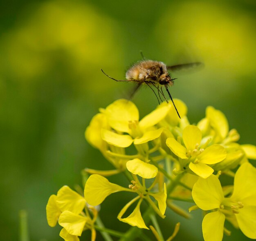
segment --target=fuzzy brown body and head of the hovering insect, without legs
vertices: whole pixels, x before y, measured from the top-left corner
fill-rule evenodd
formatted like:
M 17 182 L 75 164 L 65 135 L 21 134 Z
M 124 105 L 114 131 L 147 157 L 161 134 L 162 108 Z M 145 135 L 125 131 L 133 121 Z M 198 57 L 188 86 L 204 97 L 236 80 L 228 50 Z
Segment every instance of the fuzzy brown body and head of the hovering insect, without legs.
M 137 82 L 151 81 L 160 85 L 173 85 L 172 78 L 163 62 L 154 60 L 142 60 L 128 69 L 127 80 Z

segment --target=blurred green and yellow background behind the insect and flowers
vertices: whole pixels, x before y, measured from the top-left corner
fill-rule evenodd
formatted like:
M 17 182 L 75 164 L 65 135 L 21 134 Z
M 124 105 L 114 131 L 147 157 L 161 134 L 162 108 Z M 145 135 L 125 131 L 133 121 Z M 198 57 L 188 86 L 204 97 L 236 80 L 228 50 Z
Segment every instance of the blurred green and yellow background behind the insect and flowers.
M 191 123 L 204 117 L 208 105 L 222 110 L 240 143 L 255 145 L 255 10 L 254 0 L 1 1 L 1 239 L 18 240 L 18 212 L 25 209 L 31 240 L 62 240 L 61 228 L 47 225 L 47 200 L 63 185 L 80 184 L 85 167 L 112 168 L 84 131 L 99 107 L 132 88 L 100 69 L 124 79 L 140 50 L 168 65 L 204 62 L 200 71 L 173 74 L 173 98 L 187 104 Z M 141 117 L 157 106 L 148 88 L 133 100 Z M 110 180 L 121 184 L 120 177 Z M 108 228 L 129 228 L 116 219 L 127 201 L 115 194 L 101 205 Z M 177 221 L 176 240 L 202 240 L 199 211 L 190 221 L 169 212 L 160 221 L 165 237 Z M 249 240 L 227 228 L 233 234 L 224 240 Z

